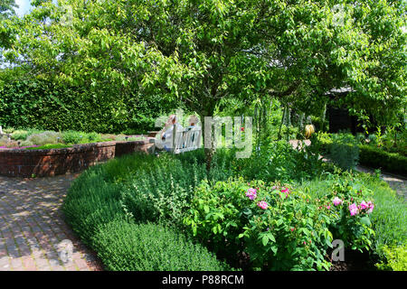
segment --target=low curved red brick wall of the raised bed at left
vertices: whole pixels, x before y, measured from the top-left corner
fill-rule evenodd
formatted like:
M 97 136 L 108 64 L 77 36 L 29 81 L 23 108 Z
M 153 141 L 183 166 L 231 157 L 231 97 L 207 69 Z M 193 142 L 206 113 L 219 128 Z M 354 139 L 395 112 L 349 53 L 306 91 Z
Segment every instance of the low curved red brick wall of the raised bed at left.
M 75 144 L 48 150 L 0 149 L 0 175 L 11 177 L 52 176 L 80 172 L 115 156 L 154 152 L 150 139 L 133 142 Z

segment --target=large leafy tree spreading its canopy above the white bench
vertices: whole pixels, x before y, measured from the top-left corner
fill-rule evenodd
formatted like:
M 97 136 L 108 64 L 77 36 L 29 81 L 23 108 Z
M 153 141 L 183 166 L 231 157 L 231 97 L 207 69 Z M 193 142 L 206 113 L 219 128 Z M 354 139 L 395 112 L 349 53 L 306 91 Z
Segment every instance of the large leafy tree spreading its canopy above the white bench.
M 160 94 L 204 120 L 225 98 L 279 98 L 309 109 L 327 90 L 350 86 L 346 101 L 357 109 L 405 99 L 402 1 L 58 4 L 40 1 L 9 23 L 19 38 L 7 57 L 39 76 L 99 89 L 103 101 L 129 89 Z M 205 153 L 209 167 L 213 149 Z

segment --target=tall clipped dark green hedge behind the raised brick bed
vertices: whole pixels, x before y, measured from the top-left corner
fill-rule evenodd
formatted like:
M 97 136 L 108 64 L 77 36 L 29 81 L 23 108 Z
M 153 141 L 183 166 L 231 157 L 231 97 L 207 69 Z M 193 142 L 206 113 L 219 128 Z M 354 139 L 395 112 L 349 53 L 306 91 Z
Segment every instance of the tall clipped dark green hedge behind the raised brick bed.
M 156 117 L 179 106 L 159 96 L 117 95 L 112 101 L 111 96 L 90 89 L 41 79 L 1 80 L 0 73 L 0 125 L 3 127 L 137 134 L 153 130 Z M 116 111 L 118 108 L 120 111 Z

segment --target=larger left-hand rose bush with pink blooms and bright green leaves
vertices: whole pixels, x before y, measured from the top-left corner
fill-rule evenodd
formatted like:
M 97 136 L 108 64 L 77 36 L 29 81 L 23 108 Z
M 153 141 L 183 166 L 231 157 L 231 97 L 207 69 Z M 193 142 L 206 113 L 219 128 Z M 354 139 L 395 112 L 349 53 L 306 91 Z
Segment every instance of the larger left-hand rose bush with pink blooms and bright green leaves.
M 329 269 L 329 214 L 287 187 L 242 179 L 207 182 L 194 191 L 184 223 L 195 237 L 225 256 L 246 252 L 252 267 Z

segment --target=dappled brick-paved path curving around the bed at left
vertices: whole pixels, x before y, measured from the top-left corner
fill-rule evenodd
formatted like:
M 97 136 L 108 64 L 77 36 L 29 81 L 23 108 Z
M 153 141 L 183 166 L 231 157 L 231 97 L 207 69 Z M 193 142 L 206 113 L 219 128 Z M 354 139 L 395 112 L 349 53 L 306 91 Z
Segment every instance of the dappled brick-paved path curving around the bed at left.
M 0 176 L 0 271 L 101 270 L 62 219 L 62 200 L 75 176 Z

